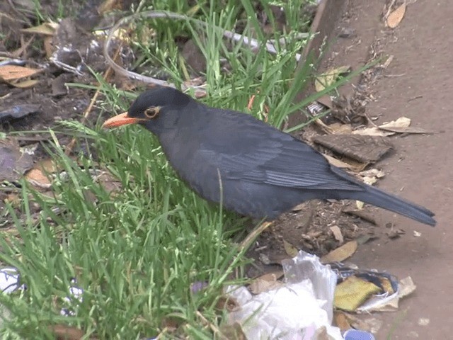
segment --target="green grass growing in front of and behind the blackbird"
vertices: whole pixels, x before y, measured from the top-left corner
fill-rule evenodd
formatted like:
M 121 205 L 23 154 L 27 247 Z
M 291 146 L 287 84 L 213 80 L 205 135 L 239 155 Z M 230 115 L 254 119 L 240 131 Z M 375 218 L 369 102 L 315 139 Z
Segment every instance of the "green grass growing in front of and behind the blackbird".
M 154 9 L 194 12 L 187 1 L 167 2 L 154 1 Z M 246 111 L 249 98 L 256 95 L 251 114 L 282 127 L 288 115 L 314 99 L 293 103 L 314 72 L 314 65 L 306 61 L 294 74 L 294 55 L 303 45 L 294 33 L 307 30 L 294 13 L 304 0 L 281 3 L 292 13 L 288 16 L 292 33 L 273 35 L 261 31 L 248 1 L 224 2 L 219 7 L 219 1 L 200 1 L 193 14 L 212 28 L 196 40 L 207 59 L 208 96 L 203 101 Z M 271 15 L 268 2 L 262 5 Z M 285 48 L 277 55 L 252 52 L 240 43 L 229 48 L 214 26 L 231 30 L 238 16 L 244 35 L 260 40 L 283 37 Z M 185 80 L 187 65 L 173 38 L 200 32 L 185 22 L 159 21 L 157 27 L 159 33 L 152 42 L 134 44 L 139 66 L 163 68 L 178 86 Z M 229 61 L 229 72 L 222 70 L 220 57 Z M 99 106 L 105 111 L 125 111 L 133 95 L 105 84 L 99 76 L 98 80 L 105 95 Z M 53 339 L 49 327 L 64 324 L 83 329 L 87 339 L 159 334 L 163 339 L 176 334 L 213 339 L 212 328 L 197 312 L 215 327 L 224 323 L 226 312 L 217 306 L 222 288 L 243 280 L 248 261 L 237 246 L 245 220 L 210 205 L 179 181 L 151 134 L 137 126 L 104 131 L 98 123 L 95 127 L 64 123 L 65 131 L 90 148 L 88 155 L 78 155 L 76 160 L 64 154 L 51 131 L 47 151 L 63 170 L 53 181 L 52 193 L 42 194 L 24 181 L 21 207 L 9 205 L 1 216 L 13 220 L 18 234 L 2 232 L 0 261 L 18 268 L 27 289 L 0 295 L 1 305 L 8 310 L 0 334 L 4 339 Z M 93 176 L 95 169 L 112 174 L 120 188 L 108 192 L 105 183 Z M 41 209 L 38 215 L 30 208 L 35 204 Z M 65 298 L 70 296 L 73 278 L 84 295 L 81 302 L 69 303 Z M 190 287 L 197 281 L 209 285 L 192 293 Z M 74 316 L 60 315 L 62 308 L 70 308 Z

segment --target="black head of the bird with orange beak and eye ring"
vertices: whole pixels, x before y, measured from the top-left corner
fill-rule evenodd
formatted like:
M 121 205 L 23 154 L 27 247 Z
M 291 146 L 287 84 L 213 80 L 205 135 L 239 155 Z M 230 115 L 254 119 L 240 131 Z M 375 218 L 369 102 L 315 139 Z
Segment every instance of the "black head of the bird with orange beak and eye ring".
M 115 115 L 103 123 L 103 128 L 139 123 L 154 133 L 173 123 L 185 106 L 193 101 L 190 96 L 171 87 L 151 89 L 140 94 L 125 113 Z

